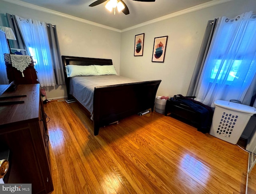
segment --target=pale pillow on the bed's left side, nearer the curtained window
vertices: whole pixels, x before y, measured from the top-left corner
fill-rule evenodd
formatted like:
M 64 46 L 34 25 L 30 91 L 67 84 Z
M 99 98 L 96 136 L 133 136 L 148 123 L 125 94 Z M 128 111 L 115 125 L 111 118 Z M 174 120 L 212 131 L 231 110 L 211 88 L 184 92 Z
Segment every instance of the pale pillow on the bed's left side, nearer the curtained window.
M 67 65 L 65 66 L 68 78 L 74 76 L 97 76 L 98 73 L 94 65 Z

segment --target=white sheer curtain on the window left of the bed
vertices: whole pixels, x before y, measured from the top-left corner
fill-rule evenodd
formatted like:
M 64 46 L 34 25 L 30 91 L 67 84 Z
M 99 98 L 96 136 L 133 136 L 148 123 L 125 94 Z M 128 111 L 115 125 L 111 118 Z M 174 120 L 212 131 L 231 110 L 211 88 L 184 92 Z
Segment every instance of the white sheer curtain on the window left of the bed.
M 33 57 L 40 86 L 55 86 L 46 23 L 15 16 L 28 54 Z

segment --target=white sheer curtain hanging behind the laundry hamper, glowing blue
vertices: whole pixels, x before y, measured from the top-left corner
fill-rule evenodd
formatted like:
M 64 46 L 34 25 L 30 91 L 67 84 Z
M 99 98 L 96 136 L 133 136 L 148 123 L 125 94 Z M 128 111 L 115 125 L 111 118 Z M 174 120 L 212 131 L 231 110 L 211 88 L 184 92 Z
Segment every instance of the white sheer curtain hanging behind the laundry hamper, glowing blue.
M 256 18 L 252 12 L 219 18 L 196 100 L 214 107 L 215 100 L 241 102 L 256 73 Z

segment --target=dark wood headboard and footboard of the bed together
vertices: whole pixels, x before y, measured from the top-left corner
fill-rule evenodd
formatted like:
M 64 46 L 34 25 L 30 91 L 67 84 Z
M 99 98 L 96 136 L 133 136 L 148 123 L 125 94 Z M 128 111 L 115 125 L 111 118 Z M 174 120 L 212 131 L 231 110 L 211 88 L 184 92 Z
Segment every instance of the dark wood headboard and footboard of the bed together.
M 70 78 L 66 74 L 66 65 L 112 65 L 111 59 L 62 56 L 68 98 Z M 94 88 L 93 120 L 94 135 L 98 135 L 102 126 L 116 122 L 132 114 L 151 108 L 154 111 L 156 92 L 161 80 L 99 86 Z

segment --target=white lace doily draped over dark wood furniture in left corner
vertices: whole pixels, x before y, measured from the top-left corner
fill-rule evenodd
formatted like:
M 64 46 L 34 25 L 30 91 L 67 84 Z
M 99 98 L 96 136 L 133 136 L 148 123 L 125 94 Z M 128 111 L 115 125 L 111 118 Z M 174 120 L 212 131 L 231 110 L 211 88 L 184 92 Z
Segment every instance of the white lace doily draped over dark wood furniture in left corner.
M 4 61 L 12 64 L 14 68 L 22 73 L 22 77 L 24 77 L 23 71 L 31 63 L 31 58 L 28 55 L 4 54 Z

